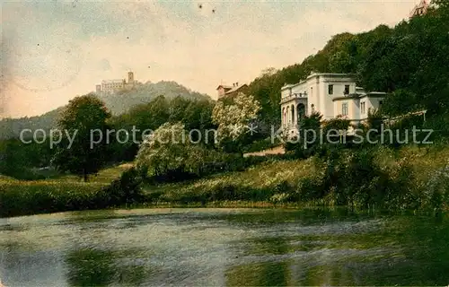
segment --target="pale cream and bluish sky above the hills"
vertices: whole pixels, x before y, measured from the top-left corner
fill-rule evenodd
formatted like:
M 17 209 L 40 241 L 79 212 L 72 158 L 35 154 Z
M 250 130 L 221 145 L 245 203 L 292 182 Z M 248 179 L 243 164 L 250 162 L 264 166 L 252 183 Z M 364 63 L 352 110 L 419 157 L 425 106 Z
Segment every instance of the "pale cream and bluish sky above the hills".
M 220 83 L 301 63 L 335 34 L 394 26 L 417 2 L 0 0 L 0 117 L 43 114 L 128 71 L 216 99 Z

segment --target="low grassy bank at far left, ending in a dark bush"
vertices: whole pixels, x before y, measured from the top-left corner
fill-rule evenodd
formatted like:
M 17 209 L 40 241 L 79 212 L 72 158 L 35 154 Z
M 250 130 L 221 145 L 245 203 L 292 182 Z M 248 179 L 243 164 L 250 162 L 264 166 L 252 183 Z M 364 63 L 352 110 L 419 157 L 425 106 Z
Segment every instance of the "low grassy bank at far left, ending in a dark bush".
M 141 201 L 136 188 L 139 174 L 128 169 L 123 165 L 101 170 L 87 183 L 71 176 L 33 181 L 0 178 L 0 217 L 102 209 Z M 109 186 L 111 180 L 115 184 Z

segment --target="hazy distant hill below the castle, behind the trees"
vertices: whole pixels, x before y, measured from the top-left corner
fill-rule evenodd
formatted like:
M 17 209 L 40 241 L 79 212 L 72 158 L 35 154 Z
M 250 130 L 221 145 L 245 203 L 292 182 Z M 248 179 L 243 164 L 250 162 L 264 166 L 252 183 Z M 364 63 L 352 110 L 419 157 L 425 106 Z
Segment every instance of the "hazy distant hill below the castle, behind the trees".
M 191 91 L 176 82 L 166 81 L 138 83 L 136 88 L 132 90 L 119 91 L 110 95 L 99 95 L 99 97 L 105 102 L 106 107 L 110 109 L 113 115 L 119 115 L 160 95 L 164 95 L 166 99 L 181 96 L 190 100 L 211 100 L 207 94 Z M 57 108 L 36 117 L 4 118 L 0 120 L 0 140 L 19 137 L 21 131 L 25 128 L 30 128 L 33 131 L 41 128 L 47 131 L 56 126 L 57 117 L 63 109 L 64 107 Z

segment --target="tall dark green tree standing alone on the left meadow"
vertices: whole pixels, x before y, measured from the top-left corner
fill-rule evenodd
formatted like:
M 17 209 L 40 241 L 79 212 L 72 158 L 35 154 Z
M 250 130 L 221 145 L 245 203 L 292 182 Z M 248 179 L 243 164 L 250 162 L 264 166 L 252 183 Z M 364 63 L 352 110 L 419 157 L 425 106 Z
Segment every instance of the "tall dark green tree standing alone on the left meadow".
M 70 100 L 57 121 L 58 128 L 63 131 L 52 160 L 57 170 L 69 171 L 87 181 L 89 175 L 106 164 L 106 120 L 109 117 L 110 112 L 94 94 Z

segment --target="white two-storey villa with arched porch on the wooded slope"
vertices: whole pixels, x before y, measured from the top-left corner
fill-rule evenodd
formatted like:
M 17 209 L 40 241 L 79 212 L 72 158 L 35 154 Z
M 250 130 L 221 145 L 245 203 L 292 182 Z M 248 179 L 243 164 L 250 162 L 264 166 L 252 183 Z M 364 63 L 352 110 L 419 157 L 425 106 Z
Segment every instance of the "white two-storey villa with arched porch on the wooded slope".
M 340 116 L 357 124 L 368 117 L 370 109 L 382 106 L 385 95 L 357 87 L 354 74 L 313 73 L 303 82 L 281 88 L 282 127 L 286 135 L 297 135 L 301 118 L 313 111 L 325 120 Z

